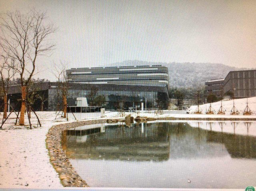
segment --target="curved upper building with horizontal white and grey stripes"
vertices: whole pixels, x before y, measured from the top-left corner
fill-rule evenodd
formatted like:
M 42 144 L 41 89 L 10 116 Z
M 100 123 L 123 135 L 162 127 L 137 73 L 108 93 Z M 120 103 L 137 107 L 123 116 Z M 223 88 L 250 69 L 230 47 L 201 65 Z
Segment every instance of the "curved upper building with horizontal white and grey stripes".
M 72 83 L 167 86 L 168 68 L 162 65 L 71 68 Z

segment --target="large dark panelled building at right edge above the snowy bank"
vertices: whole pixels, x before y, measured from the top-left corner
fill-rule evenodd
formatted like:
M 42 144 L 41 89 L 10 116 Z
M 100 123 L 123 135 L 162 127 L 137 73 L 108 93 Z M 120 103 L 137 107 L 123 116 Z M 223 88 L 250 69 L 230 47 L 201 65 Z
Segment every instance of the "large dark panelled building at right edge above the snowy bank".
M 256 96 L 256 70 L 229 72 L 223 90 L 224 93 L 232 92 L 235 98 Z

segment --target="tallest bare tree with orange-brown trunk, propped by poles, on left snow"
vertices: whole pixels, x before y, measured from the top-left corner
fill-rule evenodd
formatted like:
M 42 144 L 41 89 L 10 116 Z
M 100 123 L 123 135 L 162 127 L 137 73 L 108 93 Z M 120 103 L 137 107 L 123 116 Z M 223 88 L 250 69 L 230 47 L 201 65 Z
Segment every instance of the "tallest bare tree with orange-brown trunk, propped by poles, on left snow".
M 51 24 L 45 24 L 46 13 L 19 11 L 8 12 L 0 17 L 0 47 L 4 54 L 18 62 L 12 68 L 20 75 L 22 106 L 20 125 L 24 125 L 26 108 L 26 86 L 30 83 L 36 69 L 38 56 L 46 55 L 54 45 L 48 40 L 56 31 Z

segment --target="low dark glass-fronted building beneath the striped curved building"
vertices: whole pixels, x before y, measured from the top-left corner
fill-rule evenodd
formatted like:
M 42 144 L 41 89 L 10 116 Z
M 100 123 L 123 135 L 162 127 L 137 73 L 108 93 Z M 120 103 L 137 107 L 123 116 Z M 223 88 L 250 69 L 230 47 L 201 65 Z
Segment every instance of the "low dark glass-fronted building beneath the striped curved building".
M 44 95 L 44 111 L 55 111 L 58 103 L 62 104 L 61 96 L 58 96 L 58 83 L 44 82 L 40 85 L 38 94 Z M 21 98 L 20 85 L 10 86 L 8 99 L 14 106 Z M 141 102 L 147 104 L 147 108 L 156 107 L 156 99 L 163 109 L 168 105 L 168 87 L 167 86 L 132 86 L 132 85 L 116 85 L 116 84 L 79 84 L 70 83 L 68 96 L 68 105 L 75 106 L 77 97 L 86 97 L 89 106 L 102 106 L 107 110 L 116 110 L 124 107 L 138 107 L 140 109 Z M 41 101 L 35 99 L 33 108 L 40 110 Z M 16 106 L 19 108 L 19 105 Z M 17 109 L 18 110 L 18 109 Z

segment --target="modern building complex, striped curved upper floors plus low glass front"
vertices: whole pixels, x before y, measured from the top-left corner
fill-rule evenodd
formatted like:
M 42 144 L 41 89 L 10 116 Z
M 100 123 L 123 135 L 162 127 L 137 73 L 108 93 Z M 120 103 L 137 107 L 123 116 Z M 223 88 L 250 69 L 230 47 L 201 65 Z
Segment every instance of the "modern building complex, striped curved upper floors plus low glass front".
M 72 68 L 66 71 L 69 80 L 69 106 L 76 106 L 77 97 L 86 97 L 89 106 L 101 106 L 107 110 L 128 107 L 162 109 L 168 107 L 168 68 L 152 66 L 116 66 L 95 68 Z M 55 111 L 62 105 L 58 95 L 58 83 L 40 84 L 40 91 L 47 101 L 44 110 Z M 11 86 L 9 98 L 14 105 L 20 99 L 20 86 Z M 40 100 L 34 101 L 34 109 L 40 109 Z M 62 107 L 62 106 L 60 106 Z

